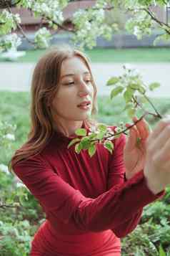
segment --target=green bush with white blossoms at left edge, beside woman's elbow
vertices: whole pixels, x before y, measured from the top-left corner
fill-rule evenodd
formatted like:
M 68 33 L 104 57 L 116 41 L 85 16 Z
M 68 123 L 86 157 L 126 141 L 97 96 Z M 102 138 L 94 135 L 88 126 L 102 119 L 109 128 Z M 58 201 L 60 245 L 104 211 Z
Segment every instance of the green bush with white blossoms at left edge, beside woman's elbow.
M 1 155 L 6 152 L 8 160 L 15 131 L 16 125 L 0 121 Z M 9 172 L 3 158 L 0 158 L 0 194 L 0 255 L 28 256 L 32 234 L 37 229 L 34 223 L 39 224 L 44 214 L 22 181 Z

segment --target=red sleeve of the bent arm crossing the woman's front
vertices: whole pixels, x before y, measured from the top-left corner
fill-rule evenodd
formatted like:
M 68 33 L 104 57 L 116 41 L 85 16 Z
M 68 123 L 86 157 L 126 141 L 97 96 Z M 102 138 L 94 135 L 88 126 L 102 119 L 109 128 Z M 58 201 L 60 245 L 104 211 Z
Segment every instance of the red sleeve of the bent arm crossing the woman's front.
M 39 200 L 49 219 L 82 231 L 113 229 L 116 233 L 134 212 L 160 196 L 151 193 L 141 172 L 95 199 L 86 197 L 55 174 L 40 154 L 17 164 L 14 172 Z

